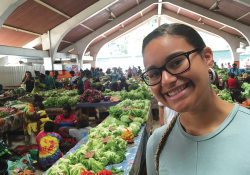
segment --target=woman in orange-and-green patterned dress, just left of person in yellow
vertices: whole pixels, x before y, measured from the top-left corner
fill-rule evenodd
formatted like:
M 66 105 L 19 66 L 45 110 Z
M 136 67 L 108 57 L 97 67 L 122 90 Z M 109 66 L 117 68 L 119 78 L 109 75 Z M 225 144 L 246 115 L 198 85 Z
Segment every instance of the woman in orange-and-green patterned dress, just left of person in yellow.
M 30 139 L 30 135 L 28 134 L 27 131 L 27 126 L 30 123 L 37 123 L 40 119 L 37 119 L 35 117 L 33 117 L 33 113 L 36 111 L 36 107 L 41 105 L 43 102 L 43 98 L 41 96 L 35 95 L 34 96 L 34 101 L 33 104 L 28 104 L 24 110 L 23 113 L 23 130 L 24 130 L 24 138 L 25 138 L 25 144 L 30 144 L 30 140 L 31 140 L 31 144 L 35 144 L 35 140 L 36 138 L 34 138 L 34 135 L 31 135 L 31 139 Z

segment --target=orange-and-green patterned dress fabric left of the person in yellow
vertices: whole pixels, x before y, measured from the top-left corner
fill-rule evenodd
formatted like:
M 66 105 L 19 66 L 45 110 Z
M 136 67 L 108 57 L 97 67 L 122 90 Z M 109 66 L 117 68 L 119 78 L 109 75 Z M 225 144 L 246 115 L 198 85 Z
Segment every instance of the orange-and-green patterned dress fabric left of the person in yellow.
M 29 133 L 27 131 L 27 126 L 30 123 L 28 116 L 30 116 L 33 112 L 35 112 L 35 108 L 32 104 L 28 104 L 23 112 L 23 131 L 24 131 L 24 139 L 25 144 L 29 144 Z

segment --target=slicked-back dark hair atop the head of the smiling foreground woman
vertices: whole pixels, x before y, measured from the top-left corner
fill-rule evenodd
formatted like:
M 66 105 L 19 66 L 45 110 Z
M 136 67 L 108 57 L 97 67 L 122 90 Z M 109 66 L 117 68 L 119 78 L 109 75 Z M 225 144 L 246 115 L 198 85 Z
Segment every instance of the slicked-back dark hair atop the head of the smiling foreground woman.
M 144 52 L 145 47 L 148 45 L 148 43 L 150 43 L 150 41 L 166 35 L 181 36 L 190 45 L 194 46 L 194 48 L 206 47 L 206 44 L 204 43 L 199 33 L 192 27 L 185 24 L 173 23 L 173 24 L 162 24 L 161 26 L 156 28 L 153 32 L 148 34 L 143 40 L 142 52 Z

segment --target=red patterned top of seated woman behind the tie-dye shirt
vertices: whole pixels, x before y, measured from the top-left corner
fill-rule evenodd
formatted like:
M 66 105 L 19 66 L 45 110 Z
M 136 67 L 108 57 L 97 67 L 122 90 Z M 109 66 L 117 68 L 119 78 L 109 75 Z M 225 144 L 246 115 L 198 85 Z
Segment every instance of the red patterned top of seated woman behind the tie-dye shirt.
M 56 116 L 54 124 L 59 125 L 59 129 L 65 127 L 74 127 L 76 124 L 77 117 L 74 114 L 71 114 L 69 118 L 64 118 L 63 114 Z

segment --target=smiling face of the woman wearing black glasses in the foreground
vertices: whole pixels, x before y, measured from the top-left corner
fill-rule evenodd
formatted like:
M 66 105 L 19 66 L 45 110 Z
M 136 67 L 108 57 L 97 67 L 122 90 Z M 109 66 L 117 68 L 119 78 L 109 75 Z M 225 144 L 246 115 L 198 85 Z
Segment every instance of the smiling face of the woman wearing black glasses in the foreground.
M 177 52 L 181 54 L 194 49 L 179 36 L 168 35 L 153 39 L 143 52 L 145 69 L 150 66 L 161 67 L 171 54 Z M 211 90 L 208 69 L 213 56 L 211 49 L 207 47 L 201 53 L 203 58 L 198 52 L 189 55 L 190 68 L 186 72 L 171 75 L 163 71 L 161 82 L 151 86 L 156 98 L 165 106 L 183 113 L 194 109 L 197 104 L 206 100 Z

